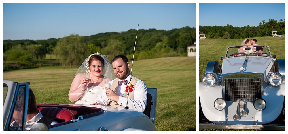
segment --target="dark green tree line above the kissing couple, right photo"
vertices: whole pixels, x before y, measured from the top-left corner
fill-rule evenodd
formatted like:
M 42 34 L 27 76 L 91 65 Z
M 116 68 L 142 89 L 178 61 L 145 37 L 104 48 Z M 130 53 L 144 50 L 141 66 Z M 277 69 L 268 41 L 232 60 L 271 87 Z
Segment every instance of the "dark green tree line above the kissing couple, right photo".
M 270 36 L 272 30 L 276 30 L 277 34 L 285 34 L 285 18 L 279 21 L 269 19 L 268 22 L 262 20 L 257 27 L 244 26 L 234 27 L 232 25 L 227 26 L 199 26 L 199 32 L 206 34 L 206 38 L 218 39 L 243 39 L 252 37 Z

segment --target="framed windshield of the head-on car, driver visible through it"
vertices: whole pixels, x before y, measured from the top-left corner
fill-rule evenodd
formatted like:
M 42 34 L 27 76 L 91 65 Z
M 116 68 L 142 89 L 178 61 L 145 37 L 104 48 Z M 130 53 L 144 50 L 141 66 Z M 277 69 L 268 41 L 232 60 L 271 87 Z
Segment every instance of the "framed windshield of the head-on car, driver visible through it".
M 226 57 L 246 55 L 271 57 L 268 46 L 263 45 L 231 46 L 226 52 Z

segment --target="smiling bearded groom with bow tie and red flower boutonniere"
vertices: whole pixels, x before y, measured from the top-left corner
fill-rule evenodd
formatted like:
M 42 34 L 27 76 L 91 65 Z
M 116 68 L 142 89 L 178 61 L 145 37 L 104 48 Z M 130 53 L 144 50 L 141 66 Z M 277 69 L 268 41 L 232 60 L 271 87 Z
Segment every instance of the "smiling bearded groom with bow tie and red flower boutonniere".
M 140 79 L 130 75 L 130 63 L 124 55 L 118 55 L 112 60 L 112 66 L 116 79 L 111 81 L 111 89 L 105 88 L 97 97 L 96 105 L 108 105 L 105 101 L 109 98 L 111 106 L 125 108 L 128 99 L 128 108 L 135 109 L 139 112 L 145 110 L 147 104 L 147 87 Z M 131 80 L 131 82 L 130 82 Z M 128 88 L 130 90 L 128 96 Z

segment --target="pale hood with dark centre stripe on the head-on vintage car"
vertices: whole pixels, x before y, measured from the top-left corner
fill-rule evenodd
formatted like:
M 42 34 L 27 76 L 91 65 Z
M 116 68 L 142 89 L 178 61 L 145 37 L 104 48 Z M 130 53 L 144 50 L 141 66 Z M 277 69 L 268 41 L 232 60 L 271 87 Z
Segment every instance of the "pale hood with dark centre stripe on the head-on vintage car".
M 245 67 L 245 59 L 247 60 L 247 65 Z M 260 57 L 260 56 L 246 56 L 246 57 L 231 57 L 223 59 L 222 63 L 222 75 L 230 73 L 240 73 L 240 67 L 245 67 L 245 73 L 264 73 L 268 74 L 273 65 L 273 60 L 270 57 Z

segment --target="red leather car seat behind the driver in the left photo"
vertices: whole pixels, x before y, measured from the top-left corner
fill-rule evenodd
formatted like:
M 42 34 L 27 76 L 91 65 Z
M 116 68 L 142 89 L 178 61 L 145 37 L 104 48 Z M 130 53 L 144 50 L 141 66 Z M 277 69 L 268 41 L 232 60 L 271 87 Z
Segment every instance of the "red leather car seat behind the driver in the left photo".
M 63 119 L 65 121 L 75 119 L 74 114 L 67 108 L 39 107 L 38 110 L 41 114 Z

